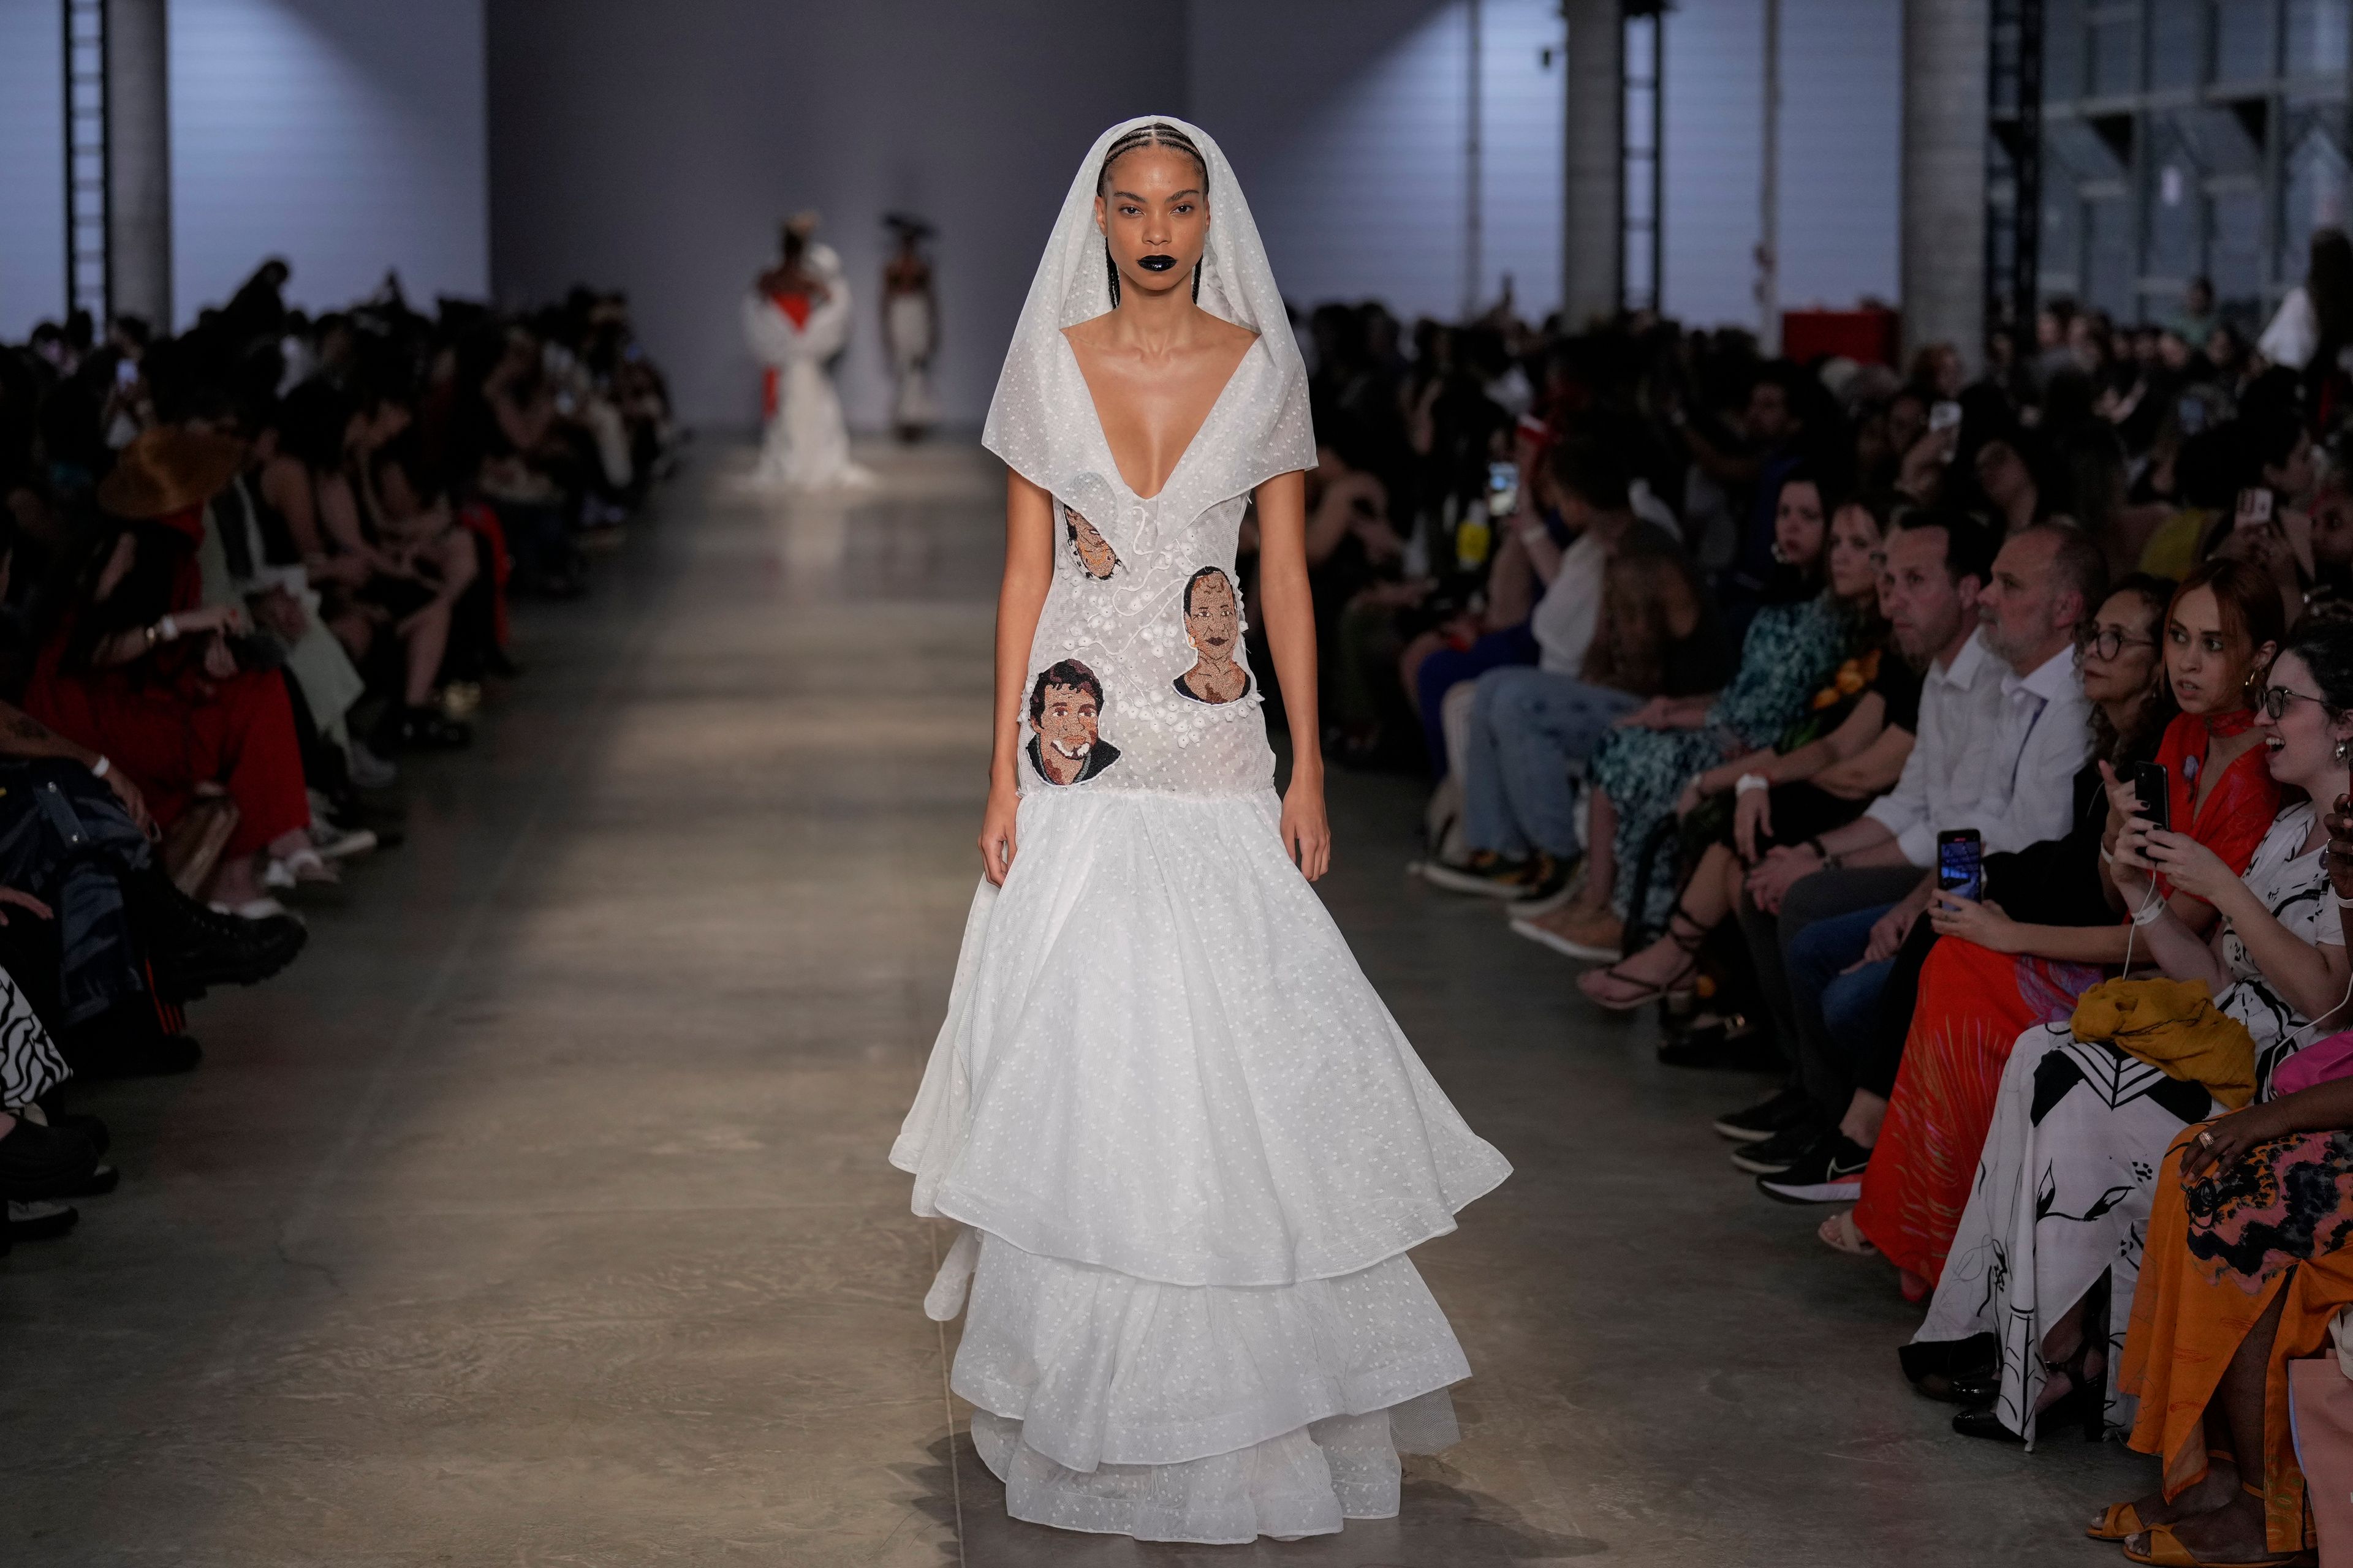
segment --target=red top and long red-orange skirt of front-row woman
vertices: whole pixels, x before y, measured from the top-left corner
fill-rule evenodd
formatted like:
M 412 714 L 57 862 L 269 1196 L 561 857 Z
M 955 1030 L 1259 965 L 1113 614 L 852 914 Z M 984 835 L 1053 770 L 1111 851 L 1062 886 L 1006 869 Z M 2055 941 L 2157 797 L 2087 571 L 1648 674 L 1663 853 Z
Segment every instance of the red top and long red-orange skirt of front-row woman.
M 2193 759 L 2205 762 L 2207 741 L 2209 726 L 2195 715 L 2177 715 L 2165 726 L 2158 762 L 2169 776 L 2167 809 L 2177 830 L 2186 825 L 2224 865 L 2245 875 L 2280 813 L 2280 785 L 2257 745 L 2231 762 L 2205 809 L 2191 811 Z M 1932 1284 L 1944 1274 L 2009 1051 L 2026 1030 L 2068 1018 L 2075 997 L 2101 973 L 2092 964 L 2012 957 L 1960 938 L 1927 954 L 1904 1065 L 1854 1206 L 1854 1227 L 1899 1269 Z

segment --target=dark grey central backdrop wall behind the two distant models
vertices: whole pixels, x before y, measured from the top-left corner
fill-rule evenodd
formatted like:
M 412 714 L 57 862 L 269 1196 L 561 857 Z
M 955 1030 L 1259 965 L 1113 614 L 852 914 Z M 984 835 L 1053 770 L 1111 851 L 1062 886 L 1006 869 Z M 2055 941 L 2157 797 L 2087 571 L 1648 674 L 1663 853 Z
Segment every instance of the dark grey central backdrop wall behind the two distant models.
M 692 421 L 758 418 L 739 301 L 814 207 L 859 327 L 849 421 L 887 414 L 882 214 L 939 226 L 951 423 L 979 425 L 1087 143 L 1184 113 L 1176 7 L 1099 0 L 492 0 L 492 254 L 501 301 L 631 292 Z

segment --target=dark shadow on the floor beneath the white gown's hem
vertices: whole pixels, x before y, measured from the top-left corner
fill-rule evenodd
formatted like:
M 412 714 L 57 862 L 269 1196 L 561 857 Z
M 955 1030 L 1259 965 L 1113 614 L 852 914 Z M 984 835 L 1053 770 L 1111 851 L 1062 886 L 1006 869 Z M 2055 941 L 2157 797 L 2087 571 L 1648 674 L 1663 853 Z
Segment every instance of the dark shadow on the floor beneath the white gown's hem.
M 1529 1523 L 1520 1509 L 1487 1493 L 1449 1486 L 1445 1465 L 1407 1460 L 1405 1497 L 1398 1519 L 1351 1519 L 1339 1535 L 1247 1547 L 1188 1547 L 1176 1542 L 1136 1542 L 1125 1535 L 1080 1535 L 1021 1523 L 1005 1514 L 1005 1488 L 972 1450 L 972 1434 L 958 1425 L 951 1436 L 934 1439 L 925 1453 L 929 1465 L 901 1469 L 918 1488 L 913 1507 L 939 1521 L 941 1566 L 960 1568 L 1111 1568 L 1125 1563 L 1184 1566 L 1257 1566 L 1268 1568 L 1511 1568 L 1518 1563 L 1565 1563 L 1598 1556 L 1609 1542 L 1586 1535 L 1562 1535 Z M 1417 1474 L 1421 1472 L 1421 1474 Z M 958 1544 L 962 1535 L 962 1544 Z

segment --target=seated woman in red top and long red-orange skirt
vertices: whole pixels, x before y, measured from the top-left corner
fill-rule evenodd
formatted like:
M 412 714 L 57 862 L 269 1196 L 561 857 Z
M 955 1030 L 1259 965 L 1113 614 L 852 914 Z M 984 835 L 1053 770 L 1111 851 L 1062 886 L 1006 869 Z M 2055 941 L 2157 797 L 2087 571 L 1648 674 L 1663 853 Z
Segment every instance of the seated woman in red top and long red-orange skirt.
M 2085 649 L 2085 691 L 2092 693 L 2094 684 L 2101 691 L 2118 686 L 2113 696 L 2125 698 L 2129 712 L 2141 701 L 2141 691 L 2129 684 L 2134 672 L 2146 682 L 2151 663 L 2162 656 L 2165 679 L 2181 705 L 2155 755 L 2172 795 L 2169 820 L 2212 849 L 2233 875 L 2242 875 L 2280 809 L 2280 788 L 2264 766 L 2249 703 L 2252 682 L 2285 635 L 2280 595 L 2247 564 L 2219 559 L 2184 578 L 2162 618 L 2151 616 L 2148 604 L 2127 599 L 2127 592 L 2118 592 L 2101 607 L 2099 618 L 2113 623 L 2106 630 L 2115 632 L 2118 654 L 2099 658 Z M 2106 644 L 2099 654 L 2106 654 Z M 2101 696 L 2094 693 L 2094 701 L 2108 710 Z M 2106 729 L 2120 729 L 2113 712 Z M 2101 748 L 2101 783 L 2115 780 L 2120 762 L 2115 745 Z M 2092 778 L 2080 783 L 2089 785 Z M 2106 816 L 2097 839 L 2087 813 Z M 2066 839 L 2085 839 L 2080 853 L 2068 853 L 2078 863 L 2075 872 L 2085 870 L 2080 860 L 2092 858 L 2094 844 L 2115 837 L 2115 825 L 2113 795 L 2078 788 L 2078 832 Z M 2035 846 L 2040 849 L 2045 846 Z M 2068 1018 L 2075 999 L 2125 959 L 2125 910 L 2106 879 L 2106 865 L 2097 865 L 2097 877 L 2101 898 L 2113 910 L 2101 924 L 2045 924 L 2047 914 L 2021 907 L 2021 917 L 2038 922 L 2026 924 L 2000 903 L 1953 896 L 1939 896 L 1939 907 L 1932 910 L 1939 940 L 1920 971 L 1904 1065 L 1887 1098 L 1880 1138 L 1871 1147 L 1861 1201 L 1852 1215 L 1833 1215 L 1824 1225 L 1831 1246 L 1875 1246 L 1904 1269 L 1908 1293 L 1925 1295 L 1944 1274 L 1944 1255 L 1969 1201 L 2009 1048 L 2028 1027 Z M 2000 893 L 1993 865 L 1988 882 Z M 2028 884 L 2047 884 L 2049 877 L 2012 882 L 2024 893 Z M 2165 891 L 2174 912 L 2195 931 L 2214 922 L 2214 910 L 2202 900 Z M 2009 898 L 2017 903 L 2017 896 Z

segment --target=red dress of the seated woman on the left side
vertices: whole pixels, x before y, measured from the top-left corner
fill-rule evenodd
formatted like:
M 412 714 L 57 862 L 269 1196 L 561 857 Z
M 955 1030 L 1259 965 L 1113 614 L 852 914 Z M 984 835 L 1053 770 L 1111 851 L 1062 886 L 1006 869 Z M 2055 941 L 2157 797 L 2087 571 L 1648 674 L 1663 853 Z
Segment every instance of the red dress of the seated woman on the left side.
M 202 574 L 188 557 L 172 581 L 172 611 L 195 609 L 200 597 Z M 129 773 L 158 823 L 176 823 L 195 804 L 198 785 L 224 785 L 238 802 L 238 830 L 224 853 L 245 856 L 311 825 L 285 675 L 240 670 L 212 679 L 202 637 L 113 670 L 66 672 L 71 637 L 68 618 L 33 665 L 24 710 Z

